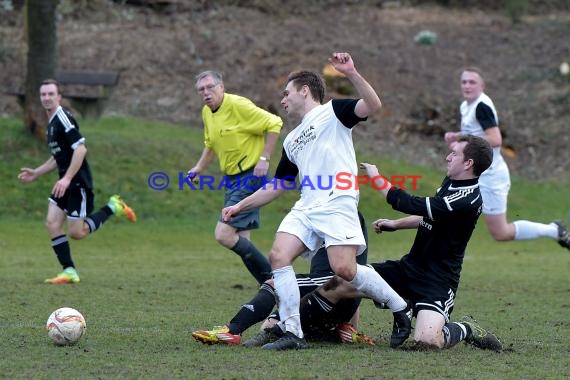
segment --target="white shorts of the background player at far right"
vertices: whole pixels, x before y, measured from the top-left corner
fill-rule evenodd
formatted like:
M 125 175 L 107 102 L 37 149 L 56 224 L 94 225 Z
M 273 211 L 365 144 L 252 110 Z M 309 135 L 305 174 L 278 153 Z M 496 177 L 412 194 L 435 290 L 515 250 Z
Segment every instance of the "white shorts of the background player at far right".
M 507 164 L 500 160 L 479 177 L 479 189 L 483 198 L 483 214 L 500 215 L 507 212 L 507 198 L 511 177 Z

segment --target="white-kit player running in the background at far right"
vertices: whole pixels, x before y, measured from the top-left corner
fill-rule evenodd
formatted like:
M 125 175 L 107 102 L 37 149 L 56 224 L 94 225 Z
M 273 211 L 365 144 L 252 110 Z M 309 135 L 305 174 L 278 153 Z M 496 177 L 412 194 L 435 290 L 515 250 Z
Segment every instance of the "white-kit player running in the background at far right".
M 549 224 L 528 220 L 507 221 L 507 198 L 511 179 L 507 163 L 501 155 L 502 137 L 495 105 L 483 91 L 485 82 L 481 71 L 465 68 L 461 74 L 461 131 L 447 132 L 445 141 L 451 148 L 460 135 L 482 137 L 493 147 L 493 163 L 479 178 L 483 197 L 485 223 L 496 241 L 529 240 L 549 237 L 563 248 L 570 249 L 570 234 L 560 221 Z

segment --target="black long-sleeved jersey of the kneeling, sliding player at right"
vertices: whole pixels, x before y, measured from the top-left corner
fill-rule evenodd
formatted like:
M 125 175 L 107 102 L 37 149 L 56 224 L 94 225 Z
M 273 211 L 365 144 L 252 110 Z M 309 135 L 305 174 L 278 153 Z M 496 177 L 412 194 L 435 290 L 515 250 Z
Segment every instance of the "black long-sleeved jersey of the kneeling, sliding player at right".
M 425 286 L 456 292 L 465 248 L 483 206 L 478 179 L 446 177 L 435 196 L 427 198 L 392 189 L 387 201 L 395 210 L 423 216 L 410 252 L 401 259 L 408 274 Z

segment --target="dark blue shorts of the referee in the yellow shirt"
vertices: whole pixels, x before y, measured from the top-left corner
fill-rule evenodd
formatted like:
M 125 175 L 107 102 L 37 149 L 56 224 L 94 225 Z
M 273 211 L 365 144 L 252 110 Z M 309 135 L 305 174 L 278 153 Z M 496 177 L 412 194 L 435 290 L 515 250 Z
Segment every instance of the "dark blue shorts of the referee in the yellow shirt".
M 224 195 L 224 207 L 233 206 L 244 198 L 255 193 L 263 185 L 263 177 L 253 175 L 253 169 L 243 173 L 226 176 L 226 190 Z M 222 216 L 220 214 L 220 222 Z M 238 231 L 255 230 L 259 228 L 260 216 L 259 208 L 240 212 L 232 217 L 230 222 L 224 222 L 234 227 Z

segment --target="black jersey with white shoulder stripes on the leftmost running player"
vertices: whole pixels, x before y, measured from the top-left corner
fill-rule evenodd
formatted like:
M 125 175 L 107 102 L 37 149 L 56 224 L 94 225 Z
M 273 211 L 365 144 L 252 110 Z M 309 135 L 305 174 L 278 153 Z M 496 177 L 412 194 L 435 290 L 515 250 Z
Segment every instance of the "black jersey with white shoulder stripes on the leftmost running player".
M 71 164 L 74 149 L 78 145 L 84 144 L 85 138 L 79 133 L 79 125 L 71 112 L 61 106 L 57 108 L 49 121 L 47 142 L 51 154 L 57 162 L 59 178 L 62 178 Z M 89 189 L 93 187 L 91 169 L 87 163 L 87 158 L 83 160 L 81 168 L 71 180 L 70 186 L 72 185 L 80 185 Z

